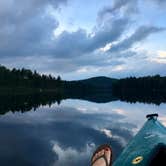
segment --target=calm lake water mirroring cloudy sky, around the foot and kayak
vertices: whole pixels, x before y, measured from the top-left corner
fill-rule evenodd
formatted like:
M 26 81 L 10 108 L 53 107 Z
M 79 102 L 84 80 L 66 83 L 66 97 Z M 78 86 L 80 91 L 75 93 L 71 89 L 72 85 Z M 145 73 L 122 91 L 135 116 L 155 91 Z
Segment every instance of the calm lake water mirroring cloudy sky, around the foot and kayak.
M 146 121 L 166 104 L 63 100 L 35 111 L 0 115 L 0 165 L 88 166 L 95 148 L 109 143 L 114 160 Z

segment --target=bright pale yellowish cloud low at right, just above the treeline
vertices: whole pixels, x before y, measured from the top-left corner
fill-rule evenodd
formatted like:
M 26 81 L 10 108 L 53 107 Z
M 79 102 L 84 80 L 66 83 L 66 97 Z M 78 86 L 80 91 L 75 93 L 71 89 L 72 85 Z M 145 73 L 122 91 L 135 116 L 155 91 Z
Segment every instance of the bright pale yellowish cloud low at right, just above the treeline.
M 148 54 L 147 52 L 137 52 L 136 56 L 131 56 L 126 59 L 124 67 L 125 68 L 121 71 L 112 71 L 110 76 L 124 78 L 156 74 L 160 74 L 161 76 L 166 75 L 166 71 L 163 70 L 166 67 L 165 58 L 161 58 L 160 55 L 156 55 L 156 53 Z

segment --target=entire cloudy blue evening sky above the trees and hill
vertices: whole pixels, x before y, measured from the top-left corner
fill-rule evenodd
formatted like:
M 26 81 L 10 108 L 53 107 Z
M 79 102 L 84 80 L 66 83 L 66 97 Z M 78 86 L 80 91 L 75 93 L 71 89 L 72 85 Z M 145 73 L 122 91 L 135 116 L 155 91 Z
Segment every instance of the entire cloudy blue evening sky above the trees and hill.
M 0 64 L 77 80 L 166 75 L 166 0 L 0 0 Z

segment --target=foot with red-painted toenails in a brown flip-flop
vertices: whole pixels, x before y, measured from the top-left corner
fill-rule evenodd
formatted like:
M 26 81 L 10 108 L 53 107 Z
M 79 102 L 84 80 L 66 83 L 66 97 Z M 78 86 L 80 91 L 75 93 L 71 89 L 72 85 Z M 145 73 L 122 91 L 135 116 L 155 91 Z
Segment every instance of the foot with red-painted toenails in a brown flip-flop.
M 91 166 L 111 166 L 112 150 L 109 145 L 101 145 L 94 152 Z

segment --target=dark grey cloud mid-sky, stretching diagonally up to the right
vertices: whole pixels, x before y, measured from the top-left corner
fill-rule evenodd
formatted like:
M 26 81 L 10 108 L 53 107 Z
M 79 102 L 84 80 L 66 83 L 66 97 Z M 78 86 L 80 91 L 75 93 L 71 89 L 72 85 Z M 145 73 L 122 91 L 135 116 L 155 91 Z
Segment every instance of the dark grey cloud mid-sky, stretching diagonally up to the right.
M 75 57 L 91 53 L 107 43 L 117 40 L 126 29 L 128 19 L 118 19 L 107 23 L 94 36 L 89 36 L 86 31 L 80 29 L 76 32 L 64 31 L 54 43 L 56 57 Z

